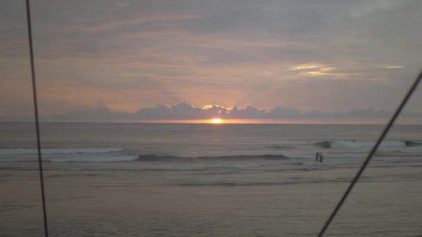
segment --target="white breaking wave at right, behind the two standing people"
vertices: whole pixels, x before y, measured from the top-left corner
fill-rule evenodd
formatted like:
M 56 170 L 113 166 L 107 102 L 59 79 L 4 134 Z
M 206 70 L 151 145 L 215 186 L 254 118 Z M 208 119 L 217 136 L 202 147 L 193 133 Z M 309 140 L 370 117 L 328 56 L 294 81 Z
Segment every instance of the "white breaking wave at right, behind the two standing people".
M 372 148 L 375 146 L 373 141 L 348 141 L 348 140 L 334 140 L 321 141 L 312 143 L 314 146 L 321 148 Z M 410 146 L 422 146 L 422 143 L 414 141 L 383 141 L 380 144 L 381 148 L 405 148 Z

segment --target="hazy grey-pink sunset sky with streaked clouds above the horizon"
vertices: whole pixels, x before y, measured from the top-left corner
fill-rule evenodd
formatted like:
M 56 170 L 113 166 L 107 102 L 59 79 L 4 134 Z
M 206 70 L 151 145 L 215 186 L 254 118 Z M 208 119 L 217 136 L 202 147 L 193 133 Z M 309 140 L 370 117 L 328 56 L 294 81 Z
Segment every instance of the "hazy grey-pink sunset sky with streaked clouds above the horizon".
M 422 1 L 32 1 L 42 121 L 384 123 Z M 26 12 L 0 9 L 0 121 L 33 113 Z M 403 123 L 422 124 L 422 89 Z

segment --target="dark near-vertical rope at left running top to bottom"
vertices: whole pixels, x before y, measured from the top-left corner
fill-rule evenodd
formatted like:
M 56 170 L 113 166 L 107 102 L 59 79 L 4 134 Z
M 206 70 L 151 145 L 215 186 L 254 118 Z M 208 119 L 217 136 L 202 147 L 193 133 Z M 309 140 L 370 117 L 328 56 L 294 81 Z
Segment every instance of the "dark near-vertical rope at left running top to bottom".
M 45 207 L 44 175 L 42 175 L 40 122 L 38 121 L 37 88 L 35 87 L 35 66 L 34 66 L 34 53 L 33 53 L 33 44 L 32 44 L 31 10 L 29 8 L 29 0 L 26 0 L 26 19 L 28 21 L 28 42 L 29 42 L 29 53 L 31 55 L 31 76 L 32 76 L 32 89 L 33 89 L 33 100 L 34 100 L 34 110 L 35 110 L 34 111 L 35 112 L 35 128 L 37 131 L 37 150 L 38 150 L 38 166 L 40 169 L 42 212 L 44 214 L 44 233 L 45 233 L 45 237 L 48 237 L 49 231 L 47 228 L 47 211 Z

